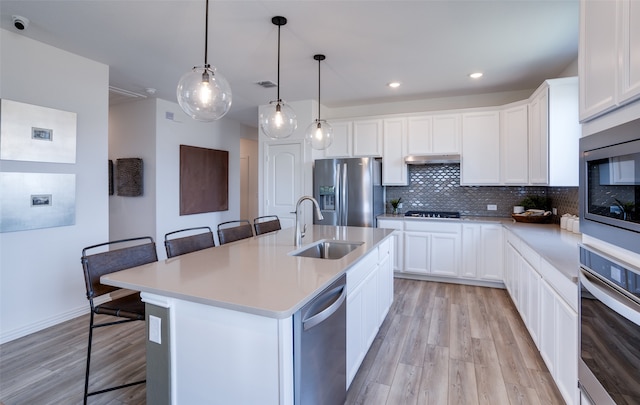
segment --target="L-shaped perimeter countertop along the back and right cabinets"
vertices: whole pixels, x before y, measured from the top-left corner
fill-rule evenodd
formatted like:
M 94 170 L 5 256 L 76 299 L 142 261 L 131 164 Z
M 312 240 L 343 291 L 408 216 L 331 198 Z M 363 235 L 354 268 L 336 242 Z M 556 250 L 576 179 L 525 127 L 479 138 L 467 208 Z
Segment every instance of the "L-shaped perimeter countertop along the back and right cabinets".
M 549 264 L 558 269 L 573 282 L 578 280 L 580 266 L 580 252 L 578 244 L 582 235 L 561 229 L 557 224 L 527 224 L 515 222 L 512 218 L 502 217 L 462 217 L 460 219 L 414 218 L 398 215 L 380 215 L 380 219 L 395 219 L 399 221 L 459 221 L 459 222 L 487 222 L 500 223 L 513 232 L 530 248 L 538 253 Z

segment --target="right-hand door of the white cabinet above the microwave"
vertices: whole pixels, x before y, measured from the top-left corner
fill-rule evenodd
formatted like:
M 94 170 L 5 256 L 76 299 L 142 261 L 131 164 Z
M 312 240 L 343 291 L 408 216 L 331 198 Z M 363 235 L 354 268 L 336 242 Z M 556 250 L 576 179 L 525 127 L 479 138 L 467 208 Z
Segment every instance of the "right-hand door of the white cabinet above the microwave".
M 640 2 L 621 0 L 620 103 L 640 97 Z

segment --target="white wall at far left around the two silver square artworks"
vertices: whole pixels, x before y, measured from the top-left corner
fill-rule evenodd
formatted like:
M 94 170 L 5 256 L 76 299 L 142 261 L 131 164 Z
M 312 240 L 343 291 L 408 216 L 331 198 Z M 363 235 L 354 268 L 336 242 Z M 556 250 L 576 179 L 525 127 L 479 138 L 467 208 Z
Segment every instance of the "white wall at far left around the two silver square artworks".
M 80 256 L 108 239 L 106 65 L 0 30 L 0 97 L 77 113 L 76 163 L 2 161 L 76 175 L 75 225 L 0 234 L 0 343 L 87 313 Z M 11 190 L 0 190 L 3 195 Z

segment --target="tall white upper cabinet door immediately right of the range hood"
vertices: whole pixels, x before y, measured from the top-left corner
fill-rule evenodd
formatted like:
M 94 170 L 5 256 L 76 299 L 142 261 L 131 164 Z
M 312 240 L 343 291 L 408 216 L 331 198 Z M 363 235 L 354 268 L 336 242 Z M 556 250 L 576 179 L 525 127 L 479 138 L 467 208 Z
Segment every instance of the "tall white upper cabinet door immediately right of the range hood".
M 500 112 L 462 114 L 461 185 L 500 184 Z

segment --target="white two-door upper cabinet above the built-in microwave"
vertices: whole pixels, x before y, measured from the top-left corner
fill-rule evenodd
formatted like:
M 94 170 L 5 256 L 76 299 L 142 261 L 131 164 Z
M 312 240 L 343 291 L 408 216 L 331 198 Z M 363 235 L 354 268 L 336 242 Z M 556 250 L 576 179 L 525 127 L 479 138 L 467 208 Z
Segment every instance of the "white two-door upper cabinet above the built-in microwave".
M 580 2 L 580 120 L 640 98 L 640 2 Z

